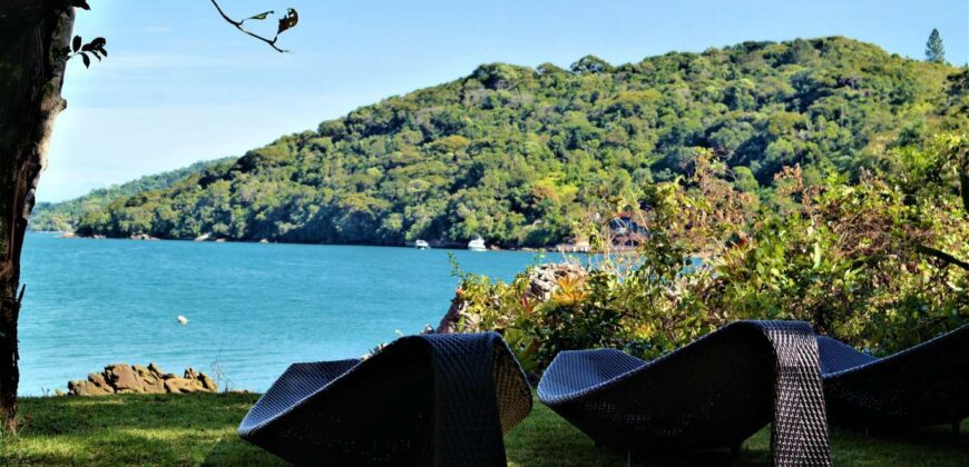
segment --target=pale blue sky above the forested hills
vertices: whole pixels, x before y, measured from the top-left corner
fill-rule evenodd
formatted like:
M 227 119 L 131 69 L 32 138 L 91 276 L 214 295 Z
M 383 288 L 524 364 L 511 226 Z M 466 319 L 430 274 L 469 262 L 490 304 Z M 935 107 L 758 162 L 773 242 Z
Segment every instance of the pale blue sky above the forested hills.
M 570 1 L 222 0 L 235 18 L 295 8 L 277 53 L 207 0 L 89 0 L 75 33 L 109 57 L 68 64 L 40 201 L 198 160 L 241 156 L 383 98 L 481 63 L 611 63 L 747 40 L 846 36 L 924 57 L 938 28 L 949 62 L 969 60 L 967 0 Z M 262 26 L 275 30 L 271 19 Z

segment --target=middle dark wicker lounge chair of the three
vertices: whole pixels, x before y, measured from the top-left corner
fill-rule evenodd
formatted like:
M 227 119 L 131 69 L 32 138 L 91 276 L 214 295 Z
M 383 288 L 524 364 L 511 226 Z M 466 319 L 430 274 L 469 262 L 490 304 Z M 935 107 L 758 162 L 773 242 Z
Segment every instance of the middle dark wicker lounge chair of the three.
M 802 321 L 734 322 L 653 361 L 562 351 L 538 397 L 598 446 L 736 451 L 773 421 L 776 465 L 831 463 L 815 336 Z

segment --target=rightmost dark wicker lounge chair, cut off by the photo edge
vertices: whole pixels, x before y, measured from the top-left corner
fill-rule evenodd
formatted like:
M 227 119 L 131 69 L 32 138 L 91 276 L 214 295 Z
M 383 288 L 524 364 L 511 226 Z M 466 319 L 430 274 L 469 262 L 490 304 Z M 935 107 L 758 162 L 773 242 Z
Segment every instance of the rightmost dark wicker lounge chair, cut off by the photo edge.
M 819 337 L 824 398 L 833 421 L 874 429 L 969 417 L 969 325 L 885 358 Z

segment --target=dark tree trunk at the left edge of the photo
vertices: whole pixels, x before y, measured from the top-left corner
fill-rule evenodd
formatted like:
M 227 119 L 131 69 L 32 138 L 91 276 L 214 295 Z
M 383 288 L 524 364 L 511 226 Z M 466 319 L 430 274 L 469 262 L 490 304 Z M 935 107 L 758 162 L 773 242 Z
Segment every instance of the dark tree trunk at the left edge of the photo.
M 20 249 L 47 160 L 74 27 L 69 0 L 0 6 L 0 433 L 17 430 Z

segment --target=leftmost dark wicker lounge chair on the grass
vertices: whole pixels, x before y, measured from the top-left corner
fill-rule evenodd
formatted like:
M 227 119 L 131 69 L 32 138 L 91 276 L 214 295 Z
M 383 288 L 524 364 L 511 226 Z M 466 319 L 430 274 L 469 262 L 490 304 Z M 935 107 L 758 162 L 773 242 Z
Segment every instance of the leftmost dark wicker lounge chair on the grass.
M 493 466 L 530 410 L 498 334 L 411 336 L 363 361 L 291 366 L 238 434 L 294 464 Z

